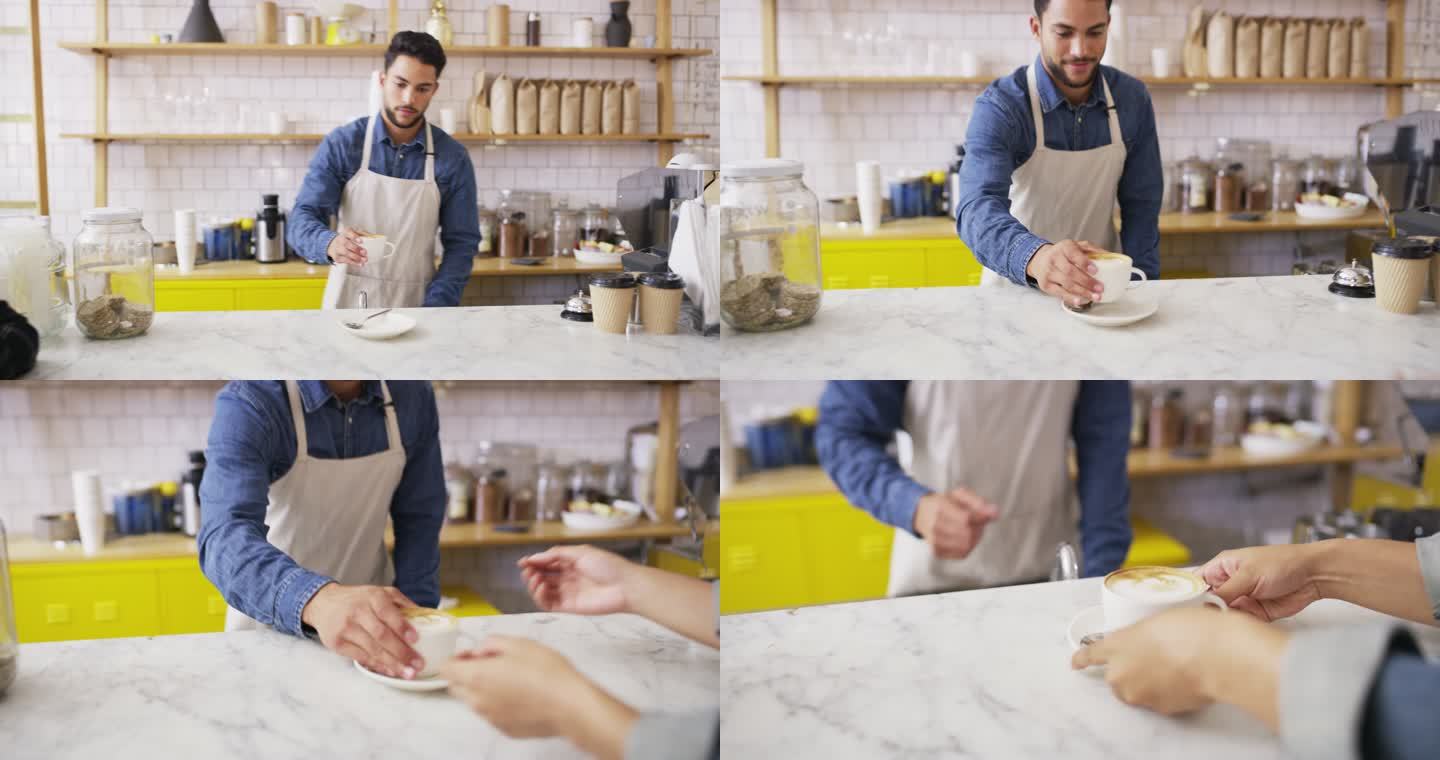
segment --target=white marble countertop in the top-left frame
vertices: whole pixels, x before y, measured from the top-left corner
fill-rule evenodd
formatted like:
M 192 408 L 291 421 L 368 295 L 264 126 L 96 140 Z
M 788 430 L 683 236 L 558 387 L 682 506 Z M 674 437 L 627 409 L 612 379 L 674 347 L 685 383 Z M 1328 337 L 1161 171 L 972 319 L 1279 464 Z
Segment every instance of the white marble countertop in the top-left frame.
M 370 341 L 337 311 L 161 311 L 138 338 L 66 328 L 26 380 L 696 380 L 719 377 L 719 340 L 600 332 L 560 307 L 396 309 L 415 330 Z M 346 318 L 360 315 L 346 311 Z

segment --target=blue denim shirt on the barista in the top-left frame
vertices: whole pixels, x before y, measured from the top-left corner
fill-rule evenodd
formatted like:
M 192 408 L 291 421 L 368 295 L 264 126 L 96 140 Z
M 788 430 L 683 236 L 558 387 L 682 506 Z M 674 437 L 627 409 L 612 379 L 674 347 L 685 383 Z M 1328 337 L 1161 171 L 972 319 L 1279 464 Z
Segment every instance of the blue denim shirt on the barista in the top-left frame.
M 415 140 L 396 145 L 376 114 L 370 171 L 402 180 L 425 178 L 425 127 Z M 340 213 L 346 183 L 360 171 L 364 155 L 364 130 L 369 119 L 359 118 L 337 127 L 310 160 L 310 171 L 289 212 L 285 240 L 295 253 L 311 263 L 330 263 L 325 250 L 336 239 L 330 214 Z M 469 282 L 475 250 L 480 249 L 480 216 L 475 212 L 475 168 L 469 151 L 451 135 L 432 127 L 435 135 L 435 184 L 441 189 L 441 248 L 444 256 L 425 292 L 426 307 L 458 307 Z

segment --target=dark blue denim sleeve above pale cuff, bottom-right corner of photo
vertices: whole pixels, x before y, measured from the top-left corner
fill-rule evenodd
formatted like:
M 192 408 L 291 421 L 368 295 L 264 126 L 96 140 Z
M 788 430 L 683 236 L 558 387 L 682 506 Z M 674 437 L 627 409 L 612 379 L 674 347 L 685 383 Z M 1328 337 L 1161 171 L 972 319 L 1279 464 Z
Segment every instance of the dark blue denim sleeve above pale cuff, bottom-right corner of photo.
M 1427 664 L 1410 636 L 1397 636 L 1365 704 L 1361 757 L 1433 759 L 1440 747 L 1436 704 L 1440 704 L 1440 665 Z

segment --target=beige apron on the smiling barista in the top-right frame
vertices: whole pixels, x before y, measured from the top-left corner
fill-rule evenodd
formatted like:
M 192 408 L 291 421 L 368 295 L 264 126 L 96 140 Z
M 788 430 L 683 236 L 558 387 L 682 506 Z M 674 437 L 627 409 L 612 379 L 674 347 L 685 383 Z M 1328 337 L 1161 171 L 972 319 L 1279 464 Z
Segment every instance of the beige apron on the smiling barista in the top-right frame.
M 1009 178 L 1009 213 L 1032 235 L 1051 243 L 1089 240 L 1107 250 L 1120 250 L 1115 233 L 1115 194 L 1125 174 L 1125 138 L 1120 117 L 1110 96 L 1110 83 L 1096 73 L 1110 105 L 1110 144 L 1084 151 L 1045 147 L 1045 119 L 1040 107 L 1035 63 L 1025 81 L 1030 85 L 1030 112 L 1035 118 L 1035 153 Z M 985 269 L 981 285 L 1009 282 Z

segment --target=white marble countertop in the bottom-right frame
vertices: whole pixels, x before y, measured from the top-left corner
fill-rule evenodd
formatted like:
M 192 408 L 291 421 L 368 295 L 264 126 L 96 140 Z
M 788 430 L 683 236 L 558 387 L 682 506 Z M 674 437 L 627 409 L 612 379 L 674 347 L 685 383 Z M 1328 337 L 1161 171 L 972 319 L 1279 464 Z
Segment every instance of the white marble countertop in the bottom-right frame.
M 727 757 L 1283 760 L 1228 705 L 1166 718 L 1070 669 L 1066 629 L 1100 580 L 805 607 L 720 619 Z M 1318 602 L 1287 628 L 1381 616 Z M 1440 630 L 1424 630 L 1433 649 Z

